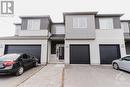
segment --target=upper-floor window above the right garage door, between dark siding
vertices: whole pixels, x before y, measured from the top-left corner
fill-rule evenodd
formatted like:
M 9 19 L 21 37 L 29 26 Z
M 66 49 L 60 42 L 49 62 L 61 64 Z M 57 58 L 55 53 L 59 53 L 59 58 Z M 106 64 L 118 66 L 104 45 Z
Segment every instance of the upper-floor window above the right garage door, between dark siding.
M 99 24 L 100 24 L 100 29 L 113 29 L 112 18 L 100 18 Z

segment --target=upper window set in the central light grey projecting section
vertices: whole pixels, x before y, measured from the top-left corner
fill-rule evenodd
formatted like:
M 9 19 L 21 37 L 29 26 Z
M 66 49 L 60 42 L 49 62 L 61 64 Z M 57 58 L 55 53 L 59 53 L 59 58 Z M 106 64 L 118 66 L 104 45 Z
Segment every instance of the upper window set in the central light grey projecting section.
M 73 28 L 87 28 L 87 18 L 86 17 L 74 17 L 73 18 Z

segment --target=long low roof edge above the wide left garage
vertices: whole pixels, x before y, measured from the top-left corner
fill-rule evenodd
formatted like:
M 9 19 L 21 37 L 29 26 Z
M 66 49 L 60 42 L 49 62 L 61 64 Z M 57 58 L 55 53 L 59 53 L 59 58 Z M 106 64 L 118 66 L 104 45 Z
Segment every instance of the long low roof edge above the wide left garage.
M 0 40 L 44 40 L 48 37 L 44 36 L 9 36 L 9 37 L 0 37 Z

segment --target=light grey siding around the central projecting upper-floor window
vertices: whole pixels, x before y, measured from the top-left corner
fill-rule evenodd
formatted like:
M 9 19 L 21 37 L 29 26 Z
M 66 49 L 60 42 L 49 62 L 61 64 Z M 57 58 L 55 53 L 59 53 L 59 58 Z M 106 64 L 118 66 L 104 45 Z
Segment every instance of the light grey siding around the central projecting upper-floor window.
M 73 18 L 87 18 L 87 28 L 73 28 Z M 66 39 L 95 39 L 95 16 L 94 15 L 67 15 L 65 16 Z

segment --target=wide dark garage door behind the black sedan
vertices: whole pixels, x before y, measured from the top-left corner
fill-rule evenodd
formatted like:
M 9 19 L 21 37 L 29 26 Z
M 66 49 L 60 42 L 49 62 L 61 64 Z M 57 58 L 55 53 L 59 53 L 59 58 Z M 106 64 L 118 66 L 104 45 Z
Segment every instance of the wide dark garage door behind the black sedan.
M 39 59 L 41 58 L 41 45 L 6 45 L 5 54 L 7 53 L 27 53 Z

